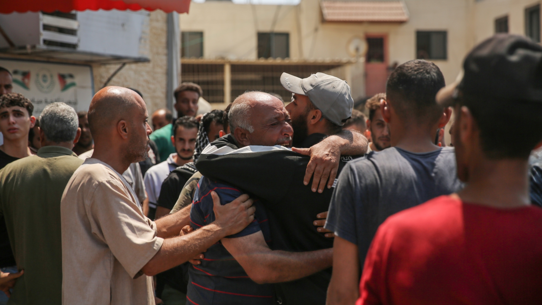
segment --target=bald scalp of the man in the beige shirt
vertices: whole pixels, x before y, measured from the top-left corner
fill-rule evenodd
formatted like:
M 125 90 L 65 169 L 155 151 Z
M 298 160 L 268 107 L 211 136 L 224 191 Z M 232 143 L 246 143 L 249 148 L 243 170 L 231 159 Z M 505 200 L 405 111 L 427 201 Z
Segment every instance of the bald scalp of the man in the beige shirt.
M 94 94 L 88 109 L 88 125 L 94 139 L 99 139 L 111 132 L 120 120 L 130 122 L 134 112 L 145 111 L 145 102 L 135 91 L 109 86 Z

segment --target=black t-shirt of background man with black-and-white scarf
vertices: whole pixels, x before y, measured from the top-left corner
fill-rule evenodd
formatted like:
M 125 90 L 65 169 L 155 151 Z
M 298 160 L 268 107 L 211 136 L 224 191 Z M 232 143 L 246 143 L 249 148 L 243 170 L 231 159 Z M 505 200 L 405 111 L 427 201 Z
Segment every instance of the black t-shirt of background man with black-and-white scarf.
M 190 162 L 173 169 L 164 182 L 162 182 L 160 196 L 158 196 L 158 206 L 173 209 L 177 199 L 179 199 L 180 191 L 183 190 L 184 184 L 197 171 L 192 164 Z

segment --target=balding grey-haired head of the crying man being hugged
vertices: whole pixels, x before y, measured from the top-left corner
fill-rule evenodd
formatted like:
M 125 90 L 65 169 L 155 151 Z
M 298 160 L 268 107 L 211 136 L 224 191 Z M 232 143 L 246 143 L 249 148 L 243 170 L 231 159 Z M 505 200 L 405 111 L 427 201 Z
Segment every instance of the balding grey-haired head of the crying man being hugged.
M 264 92 L 241 94 L 228 113 L 231 134 L 240 146 L 291 146 L 293 130 L 280 99 Z

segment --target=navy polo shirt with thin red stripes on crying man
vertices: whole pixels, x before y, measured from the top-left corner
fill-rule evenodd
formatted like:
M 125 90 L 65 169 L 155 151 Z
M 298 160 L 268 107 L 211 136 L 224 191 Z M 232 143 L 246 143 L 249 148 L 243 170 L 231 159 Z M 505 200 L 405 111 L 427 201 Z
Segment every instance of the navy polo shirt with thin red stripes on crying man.
M 190 211 L 190 225 L 194 230 L 215 221 L 211 191 L 218 194 L 222 205 L 244 194 L 238 188 L 202 177 L 194 193 Z M 256 206 L 254 221 L 241 232 L 227 238 L 248 236 L 262 231 L 266 242 L 268 244 L 271 242 L 265 209 L 259 201 L 254 202 L 254 205 Z M 191 265 L 189 269 L 190 278 L 186 294 L 189 303 L 195 305 L 273 303 L 273 285 L 257 284 L 252 281 L 221 242 L 209 247 L 204 256 L 201 264 Z

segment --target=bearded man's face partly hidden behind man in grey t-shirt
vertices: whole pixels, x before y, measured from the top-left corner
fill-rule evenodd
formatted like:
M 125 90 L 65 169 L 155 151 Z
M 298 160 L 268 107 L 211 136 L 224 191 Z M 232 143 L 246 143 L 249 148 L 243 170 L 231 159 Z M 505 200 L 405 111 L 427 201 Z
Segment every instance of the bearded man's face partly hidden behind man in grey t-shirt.
M 372 142 L 369 143 L 367 153 L 371 151 L 380 151 L 391 146 L 390 129 L 388 123 L 382 117 L 380 111 L 380 101 L 386 100 L 386 93 L 375 94 L 367 100 L 365 107 L 369 109 L 369 119 L 367 119 L 367 128 L 371 132 Z

